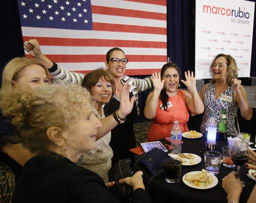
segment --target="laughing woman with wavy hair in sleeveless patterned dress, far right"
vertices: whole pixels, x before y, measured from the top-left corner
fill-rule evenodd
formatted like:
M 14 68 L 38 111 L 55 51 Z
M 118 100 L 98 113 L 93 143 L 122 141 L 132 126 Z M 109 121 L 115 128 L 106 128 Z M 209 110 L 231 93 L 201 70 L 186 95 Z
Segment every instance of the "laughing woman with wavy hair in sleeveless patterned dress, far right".
M 241 80 L 236 79 L 238 76 L 236 62 L 231 55 L 220 53 L 212 60 L 209 71 L 212 79 L 202 87 L 200 92 L 204 103 L 200 130 L 202 133 L 205 132 L 210 112 L 214 113 L 214 118 L 218 122 L 221 109 L 225 108 L 227 135 L 235 135 L 237 130 L 234 117 L 238 106 L 244 119 L 250 120 L 252 116 L 252 108 L 248 104 Z

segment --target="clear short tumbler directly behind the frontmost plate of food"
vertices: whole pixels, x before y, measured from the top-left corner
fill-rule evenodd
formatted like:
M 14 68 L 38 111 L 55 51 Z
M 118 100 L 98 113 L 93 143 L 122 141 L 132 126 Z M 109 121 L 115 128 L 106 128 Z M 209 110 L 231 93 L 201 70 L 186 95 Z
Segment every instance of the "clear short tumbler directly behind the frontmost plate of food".
M 204 165 L 205 169 L 215 175 L 218 174 L 221 161 L 221 153 L 218 151 L 205 151 L 204 152 Z

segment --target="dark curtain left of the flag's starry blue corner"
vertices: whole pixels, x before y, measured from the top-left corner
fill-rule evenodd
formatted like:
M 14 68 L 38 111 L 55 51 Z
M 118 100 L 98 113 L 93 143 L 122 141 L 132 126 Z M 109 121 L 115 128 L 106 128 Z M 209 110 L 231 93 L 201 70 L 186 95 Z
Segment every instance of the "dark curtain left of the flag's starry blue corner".
M 1 74 L 5 64 L 16 56 L 23 56 L 23 41 L 18 16 L 16 0 L 1 1 L 1 56 L 0 56 L 0 84 Z

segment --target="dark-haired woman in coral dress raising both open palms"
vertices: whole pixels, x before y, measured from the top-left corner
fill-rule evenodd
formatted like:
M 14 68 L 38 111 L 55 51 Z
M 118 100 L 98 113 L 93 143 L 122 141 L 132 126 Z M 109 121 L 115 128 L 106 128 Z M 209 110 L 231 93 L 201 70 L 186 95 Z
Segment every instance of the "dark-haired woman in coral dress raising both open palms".
M 155 141 L 169 136 L 173 121 L 179 122 L 182 132 L 188 131 L 186 122 L 189 112 L 200 114 L 203 103 L 196 90 L 193 72 L 185 72 L 185 81 L 181 79 L 188 91 L 178 89 L 179 68 L 175 63 L 166 63 L 161 72 L 152 75 L 154 90 L 147 98 L 144 115 L 152 119 L 147 139 Z

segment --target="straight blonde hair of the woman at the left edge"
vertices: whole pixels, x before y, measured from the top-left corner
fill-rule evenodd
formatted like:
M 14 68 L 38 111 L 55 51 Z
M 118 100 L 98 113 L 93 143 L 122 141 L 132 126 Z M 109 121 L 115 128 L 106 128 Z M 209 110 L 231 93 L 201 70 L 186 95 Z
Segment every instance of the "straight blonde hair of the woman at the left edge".
M 27 65 L 37 64 L 44 68 L 46 76 L 50 78 L 48 69 L 43 65 L 43 63 L 35 60 L 34 58 L 28 57 L 15 57 L 12 58 L 3 68 L 2 72 L 2 89 L 11 89 L 12 81 L 16 79 L 16 76 L 23 67 Z

